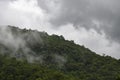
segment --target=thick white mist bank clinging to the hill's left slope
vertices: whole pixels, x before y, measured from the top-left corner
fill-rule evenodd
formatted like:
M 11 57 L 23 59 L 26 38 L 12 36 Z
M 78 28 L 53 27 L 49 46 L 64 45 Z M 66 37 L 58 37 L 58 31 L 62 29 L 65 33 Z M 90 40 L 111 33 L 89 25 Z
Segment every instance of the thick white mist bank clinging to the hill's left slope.
M 15 30 L 13 31 L 13 29 Z M 0 46 L 0 54 L 2 55 L 7 54 L 20 60 L 26 59 L 30 63 L 34 61 L 41 63 L 41 55 L 36 56 L 36 53 L 27 46 L 28 42 L 31 45 L 35 44 L 34 41 L 42 43 L 42 39 L 37 32 L 22 34 L 18 28 L 0 26 L 0 45 L 2 45 Z

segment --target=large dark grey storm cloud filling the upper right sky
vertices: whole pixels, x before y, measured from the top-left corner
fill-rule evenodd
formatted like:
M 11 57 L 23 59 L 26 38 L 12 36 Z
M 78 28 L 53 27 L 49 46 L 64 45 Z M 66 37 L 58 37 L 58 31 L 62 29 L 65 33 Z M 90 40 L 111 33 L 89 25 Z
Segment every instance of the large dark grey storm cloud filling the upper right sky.
M 120 42 L 120 1 L 119 0 L 62 0 L 62 11 L 59 17 L 51 19 L 55 26 L 68 23 L 82 26 L 86 29 L 94 28 Z M 100 27 L 93 26 L 93 20 L 99 21 Z

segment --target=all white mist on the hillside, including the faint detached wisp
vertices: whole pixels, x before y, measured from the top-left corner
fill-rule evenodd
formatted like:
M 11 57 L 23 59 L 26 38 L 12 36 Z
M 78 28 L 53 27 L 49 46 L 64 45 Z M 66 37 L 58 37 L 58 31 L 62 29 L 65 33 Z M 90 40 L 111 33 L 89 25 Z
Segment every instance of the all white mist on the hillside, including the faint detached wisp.
M 0 27 L 0 54 L 2 55 L 9 55 L 21 61 L 27 60 L 29 63 L 45 64 L 46 55 L 31 49 L 37 45 L 44 45 L 44 41 L 37 30 L 19 29 L 14 26 Z M 62 68 L 67 59 L 62 55 L 53 55 L 52 58 L 58 68 Z

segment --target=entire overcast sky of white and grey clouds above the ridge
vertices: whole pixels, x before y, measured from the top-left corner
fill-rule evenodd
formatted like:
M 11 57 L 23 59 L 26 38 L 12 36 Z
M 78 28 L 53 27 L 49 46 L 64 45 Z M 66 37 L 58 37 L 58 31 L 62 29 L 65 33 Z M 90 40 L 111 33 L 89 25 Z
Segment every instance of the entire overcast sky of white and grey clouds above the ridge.
M 63 35 L 120 58 L 120 0 L 0 0 L 0 25 Z

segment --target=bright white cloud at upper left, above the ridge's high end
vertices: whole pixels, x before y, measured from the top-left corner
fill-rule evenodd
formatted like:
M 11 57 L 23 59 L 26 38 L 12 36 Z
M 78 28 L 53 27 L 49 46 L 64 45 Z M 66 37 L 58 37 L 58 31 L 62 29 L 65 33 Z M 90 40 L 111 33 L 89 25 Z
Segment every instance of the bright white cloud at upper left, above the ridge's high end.
M 4 10 L 3 10 L 4 9 Z M 21 28 L 36 29 L 38 26 L 47 24 L 49 15 L 37 6 L 36 0 L 9 1 L 1 5 L 1 25 L 15 25 Z M 46 23 L 45 23 L 46 22 Z

